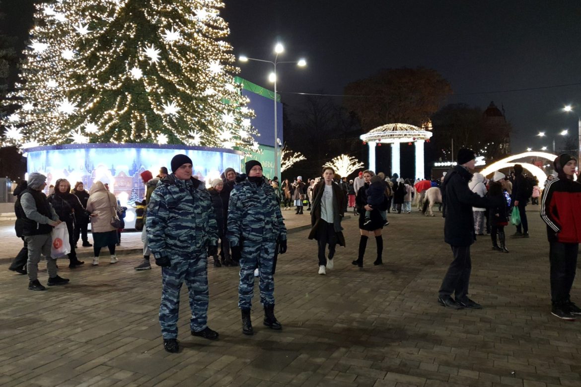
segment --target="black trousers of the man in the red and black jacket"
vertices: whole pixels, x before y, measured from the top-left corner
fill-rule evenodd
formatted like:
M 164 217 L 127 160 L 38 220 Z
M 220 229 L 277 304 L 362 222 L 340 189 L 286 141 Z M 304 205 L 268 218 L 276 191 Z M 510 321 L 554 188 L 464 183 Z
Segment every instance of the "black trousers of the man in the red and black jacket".
M 578 243 L 549 243 L 551 262 L 551 302 L 562 303 L 571 297 L 571 287 L 577 268 Z

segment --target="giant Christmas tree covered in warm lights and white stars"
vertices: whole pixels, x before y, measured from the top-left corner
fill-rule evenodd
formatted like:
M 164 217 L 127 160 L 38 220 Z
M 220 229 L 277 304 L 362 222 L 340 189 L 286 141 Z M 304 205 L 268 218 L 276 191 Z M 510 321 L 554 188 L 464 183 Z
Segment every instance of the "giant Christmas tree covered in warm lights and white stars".
M 257 148 L 214 0 L 43 3 L 5 143 Z M 51 82 L 53 81 L 53 82 Z M 15 136 L 15 131 L 17 135 Z M 17 138 L 20 135 L 20 138 Z

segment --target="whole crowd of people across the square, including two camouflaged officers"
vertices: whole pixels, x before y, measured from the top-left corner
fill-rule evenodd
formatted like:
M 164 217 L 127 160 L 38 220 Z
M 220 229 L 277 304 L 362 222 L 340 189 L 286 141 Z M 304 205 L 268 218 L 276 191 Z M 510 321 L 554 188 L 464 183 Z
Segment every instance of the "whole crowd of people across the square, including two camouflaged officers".
M 382 265 L 383 227 L 389 225 L 387 214 L 411 213 L 411 201 L 428 187 L 442 191 L 444 241 L 450 244 L 453 261 L 440 286 L 437 301 L 450 309 L 480 309 L 482 306 L 468 297 L 471 274 L 470 247 L 477 235 L 490 234 L 493 249 L 508 252 L 504 227 L 511 212 L 518 211 L 521 221 L 512 237 L 526 238 L 528 222 L 526 205 L 541 197 L 541 218 L 547 224 L 550 243 L 551 313 L 572 320 L 581 309 L 571 301 L 570 291 L 575 277 L 579 241 L 581 241 L 581 184 L 573 180 L 576 160 L 561 155 L 554 161 L 556 176 L 550 176 L 543 193 L 523 175 L 521 165 L 514 174 L 494 172 L 486 180 L 472 173 L 475 164 L 472 150 L 458 152 L 456 167 L 439 181 L 422 180 L 412 184 L 397 174 L 385 176 L 374 171 L 360 172 L 349 182 L 333 168 L 322 169 L 321 177 L 307 179 L 297 176 L 292 183 L 285 179 L 269 180 L 263 176 L 262 165 L 256 160 L 246 162 L 245 173 L 227 168 L 221 178 L 210 182 L 209 189 L 192 176 L 192 161 L 178 154 L 171 160 L 171 173 L 160 169 L 154 178 L 150 171 L 141 173 L 146 196 L 140 224 L 144 242 L 143 261 L 135 270 L 151 269 L 150 256 L 162 267 L 162 302 L 159 321 L 163 345 L 168 352 L 177 352 L 177 320 L 182 284 L 189 290 L 192 319 L 191 334 L 217 339 L 218 333 L 207 325 L 209 302 L 207 262 L 211 257 L 215 267 L 239 267 L 238 307 L 241 310 L 242 333 L 254 333 L 250 311 L 254 279 L 259 277 L 260 303 L 264 307 L 264 325 L 281 330 L 274 314 L 274 273 L 278 254 L 287 249 L 283 212 L 295 207 L 296 215 L 310 211 L 309 239 L 317 241 L 318 274 L 333 269 L 336 246 L 345 247 L 341 225 L 348 208 L 358 215 L 360 240 L 354 266 L 363 267 L 370 237 L 375 238 L 374 265 Z M 44 194 L 46 176 L 31 173 L 27 182 L 15 191 L 17 201 L 16 233 L 24 247 L 10 266 L 28 276 L 28 289 L 45 290 L 38 281 L 38 263 L 46 258 L 48 285 L 69 283 L 58 275 L 56 260 L 51 258 L 52 229 L 66 223 L 71 249 L 69 267 L 84 262 L 76 255 L 76 244 L 91 247 L 87 238 L 91 224 L 94 258 L 99 265 L 103 247 L 110 253 L 110 263 L 118 262 L 115 247 L 120 242 L 119 229 L 124 208 L 106 184 L 94 182 L 89 193 L 83 183 L 71 189 L 66 179 L 59 179 L 55 190 Z M 536 195 L 536 196 L 535 196 Z M 535 201 L 532 200 L 534 203 Z M 307 207 L 304 209 L 304 207 Z M 136 225 L 137 227 L 137 225 Z M 122 228 L 122 227 L 121 227 Z M 220 252 L 218 252 L 220 247 Z

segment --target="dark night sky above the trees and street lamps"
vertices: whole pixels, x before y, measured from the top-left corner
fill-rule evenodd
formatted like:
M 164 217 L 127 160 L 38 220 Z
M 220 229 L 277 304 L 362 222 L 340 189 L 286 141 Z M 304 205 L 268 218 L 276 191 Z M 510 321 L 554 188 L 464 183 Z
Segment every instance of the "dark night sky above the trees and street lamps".
M 8 17 L 1 28 L 23 42 L 31 3 L 2 0 Z M 284 60 L 307 59 L 307 68 L 281 65 L 278 71 L 278 88 L 291 112 L 304 98 L 291 92 L 340 95 L 347 83 L 381 68 L 424 66 L 450 81 L 449 103 L 503 105 L 514 128 L 513 151 L 550 147 L 550 140 L 535 137 L 538 131 L 556 135 L 568 128 L 576 134 L 577 116 L 561 108 L 573 104 L 581 115 L 578 0 L 227 0 L 225 5 L 222 16 L 236 56 L 270 59 L 278 40 L 285 45 Z M 241 68 L 242 77 L 270 86 L 265 64 Z M 544 88 L 555 85 L 569 86 Z M 531 88 L 541 89 L 500 92 Z

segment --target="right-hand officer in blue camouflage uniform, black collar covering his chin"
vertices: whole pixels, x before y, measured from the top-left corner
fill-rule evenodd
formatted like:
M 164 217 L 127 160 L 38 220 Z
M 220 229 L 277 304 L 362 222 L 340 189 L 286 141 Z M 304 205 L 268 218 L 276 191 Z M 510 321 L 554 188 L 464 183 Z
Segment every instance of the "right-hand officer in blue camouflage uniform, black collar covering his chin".
M 264 305 L 264 325 L 274 330 L 282 329 L 274 316 L 272 273 L 278 252 L 286 252 L 286 227 L 277 196 L 264 179 L 260 162 L 246 162 L 246 176 L 230 195 L 227 237 L 231 246 L 241 248 L 238 306 L 242 311 L 242 333 L 252 335 L 250 308 L 256 267 L 260 277 L 260 302 Z

